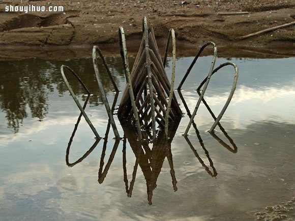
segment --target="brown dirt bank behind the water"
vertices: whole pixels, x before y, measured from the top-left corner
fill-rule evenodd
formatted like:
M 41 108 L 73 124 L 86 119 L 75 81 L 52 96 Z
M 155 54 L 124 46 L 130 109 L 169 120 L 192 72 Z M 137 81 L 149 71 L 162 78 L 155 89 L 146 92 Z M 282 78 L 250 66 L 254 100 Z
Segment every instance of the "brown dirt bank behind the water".
M 10 5 L 63 6 L 64 12 L 6 12 Z M 218 14 L 228 12 L 248 14 Z M 159 42 L 174 28 L 183 45 L 214 41 L 219 46 L 295 48 L 295 25 L 239 40 L 295 21 L 294 0 L 0 1 L 0 45 L 106 45 L 117 43 L 122 25 L 132 46 L 141 39 L 143 16 L 154 25 Z

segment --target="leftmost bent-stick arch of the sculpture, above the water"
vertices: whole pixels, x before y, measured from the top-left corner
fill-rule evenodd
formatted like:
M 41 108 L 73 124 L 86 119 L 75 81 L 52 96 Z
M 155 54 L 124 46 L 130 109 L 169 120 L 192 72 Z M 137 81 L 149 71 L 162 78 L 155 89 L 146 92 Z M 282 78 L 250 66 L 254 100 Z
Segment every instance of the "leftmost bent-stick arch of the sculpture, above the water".
M 72 98 L 74 99 L 76 105 L 78 106 L 78 108 L 80 109 L 82 115 L 84 116 L 85 120 L 87 121 L 89 127 L 91 128 L 91 130 L 93 131 L 93 133 L 95 134 L 96 138 L 97 139 L 101 139 L 101 137 L 99 136 L 99 134 L 97 133 L 96 129 L 94 128 L 92 122 L 90 121 L 90 119 L 88 118 L 87 114 L 85 113 L 84 111 L 84 108 L 81 106 L 80 102 L 78 101 L 78 99 L 76 98 L 75 96 L 75 93 L 74 91 L 72 90 L 72 87 L 70 86 L 66 76 L 65 76 L 65 73 L 64 73 L 64 69 L 67 69 L 69 70 L 76 78 L 77 80 L 80 82 L 80 84 L 83 86 L 83 88 L 85 89 L 85 91 L 87 92 L 88 96 L 90 95 L 90 91 L 87 89 L 87 87 L 85 86 L 85 84 L 82 82 L 82 80 L 79 78 L 79 76 L 71 69 L 69 68 L 68 66 L 65 66 L 65 65 L 62 65 L 61 66 L 61 73 L 62 73 L 62 77 L 66 83 L 66 86 L 68 87 L 68 90 L 70 91 L 71 93 L 71 96 Z

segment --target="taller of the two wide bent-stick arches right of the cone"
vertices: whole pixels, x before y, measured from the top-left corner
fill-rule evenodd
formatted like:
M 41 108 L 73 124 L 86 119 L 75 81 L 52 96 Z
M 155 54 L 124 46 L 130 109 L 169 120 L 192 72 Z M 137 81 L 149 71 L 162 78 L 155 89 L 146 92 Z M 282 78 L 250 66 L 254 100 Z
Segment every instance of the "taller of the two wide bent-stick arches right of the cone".
M 185 131 L 185 133 L 184 133 L 184 136 L 187 136 L 187 134 L 188 134 L 188 132 L 189 132 L 189 129 L 190 129 L 190 127 L 191 127 L 191 124 L 192 124 L 192 122 L 193 122 L 193 119 L 194 119 L 194 117 L 195 117 L 195 115 L 196 115 L 196 113 L 197 113 L 197 110 L 198 110 L 198 108 L 199 108 L 199 106 L 200 106 L 200 104 L 201 104 L 201 101 L 202 101 L 202 99 L 203 99 L 203 97 L 204 97 L 204 93 L 205 93 L 205 91 L 206 91 L 206 89 L 207 89 L 207 87 L 208 87 L 208 84 L 209 84 L 209 81 L 210 81 L 211 75 L 212 75 L 212 73 L 213 73 L 213 69 L 214 69 L 215 61 L 216 61 L 216 57 L 217 57 L 217 47 L 216 47 L 216 44 L 215 44 L 214 42 L 208 42 L 208 43 L 204 44 L 204 45 L 201 47 L 201 49 L 198 51 L 198 53 L 197 53 L 197 55 L 195 56 L 195 58 L 194 58 L 192 64 L 190 65 L 189 69 L 187 70 L 187 73 L 185 74 L 184 78 L 182 79 L 182 81 L 181 81 L 181 83 L 180 83 L 180 85 L 179 85 L 179 87 L 178 87 L 178 90 L 180 90 L 182 84 L 184 83 L 184 81 L 186 80 L 187 76 L 189 75 L 189 73 L 190 73 L 191 69 L 193 68 L 193 66 L 194 66 L 194 64 L 195 64 L 195 62 L 196 62 L 196 60 L 197 60 L 198 57 L 199 57 L 199 55 L 200 55 L 201 52 L 204 50 L 204 48 L 207 47 L 208 45 L 213 45 L 213 47 L 214 47 L 214 56 L 213 56 L 213 59 L 212 59 L 212 63 L 211 63 L 211 67 L 210 67 L 209 74 L 208 74 L 208 76 L 206 77 L 206 81 L 205 81 L 205 84 L 204 84 L 204 87 L 203 87 L 202 93 L 201 93 L 200 98 L 199 98 L 199 100 L 198 100 L 198 102 L 197 102 L 197 104 L 196 104 L 196 107 L 195 107 L 195 109 L 194 109 L 194 112 L 193 112 L 193 114 L 192 114 L 192 117 L 191 117 L 191 119 L 190 119 L 190 122 L 189 122 L 189 124 L 188 124 L 188 126 L 187 126 L 187 129 L 186 129 L 186 131 Z

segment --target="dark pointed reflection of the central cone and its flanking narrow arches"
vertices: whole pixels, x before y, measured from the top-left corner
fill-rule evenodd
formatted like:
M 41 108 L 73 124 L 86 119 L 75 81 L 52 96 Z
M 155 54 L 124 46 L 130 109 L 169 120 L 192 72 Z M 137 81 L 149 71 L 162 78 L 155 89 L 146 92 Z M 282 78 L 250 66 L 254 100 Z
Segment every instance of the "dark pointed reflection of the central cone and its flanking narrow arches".
M 173 168 L 171 142 L 178 128 L 179 122 L 175 122 L 170 127 L 172 130 L 168 132 L 169 139 L 166 139 L 164 130 L 158 131 L 157 139 L 152 140 L 151 133 L 149 131 L 143 131 L 143 139 L 139 141 L 135 136 L 135 128 L 131 124 L 122 124 L 124 130 L 124 143 L 123 143 L 123 171 L 124 182 L 126 186 L 126 193 L 128 197 L 131 197 L 132 190 L 135 182 L 135 176 L 138 165 L 141 168 L 143 176 L 146 181 L 147 200 L 149 204 L 152 204 L 153 191 L 157 187 L 157 179 L 161 173 L 163 163 L 167 158 L 170 166 L 170 174 L 172 178 L 172 185 L 174 192 L 177 191 L 175 172 Z M 126 170 L 126 140 L 128 140 L 130 147 L 136 156 L 136 161 L 132 173 L 132 180 L 130 186 L 128 186 L 127 170 Z M 152 149 L 149 143 L 152 142 Z

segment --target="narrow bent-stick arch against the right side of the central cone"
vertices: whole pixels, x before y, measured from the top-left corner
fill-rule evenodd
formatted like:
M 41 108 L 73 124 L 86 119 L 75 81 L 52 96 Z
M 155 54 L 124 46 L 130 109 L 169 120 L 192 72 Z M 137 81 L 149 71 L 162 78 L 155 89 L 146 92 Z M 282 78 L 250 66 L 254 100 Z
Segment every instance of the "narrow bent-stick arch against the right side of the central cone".
M 165 67 L 166 59 L 167 59 L 167 53 L 169 49 L 170 39 L 172 38 L 172 76 L 171 76 L 171 87 L 169 92 L 169 100 L 167 105 L 167 110 L 165 114 L 165 135 L 168 136 L 168 121 L 169 121 L 169 112 L 171 108 L 172 103 L 172 97 L 173 97 L 173 90 L 174 90 L 174 80 L 175 80 L 175 65 L 176 65 L 176 41 L 175 41 L 175 32 L 173 28 L 169 30 L 168 39 L 166 43 L 165 48 L 165 55 L 163 59 L 163 65 Z

